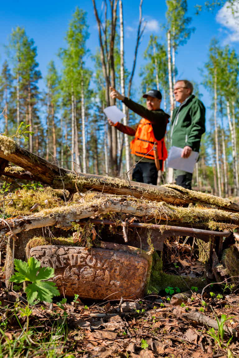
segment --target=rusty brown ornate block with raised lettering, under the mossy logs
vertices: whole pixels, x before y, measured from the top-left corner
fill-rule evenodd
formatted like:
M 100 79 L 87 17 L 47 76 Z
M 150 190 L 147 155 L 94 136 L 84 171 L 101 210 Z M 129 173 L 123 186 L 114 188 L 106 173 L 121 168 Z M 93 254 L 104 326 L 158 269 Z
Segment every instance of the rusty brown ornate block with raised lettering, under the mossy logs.
M 30 257 L 42 267 L 53 267 L 55 282 L 65 296 L 91 299 L 138 299 L 144 295 L 151 257 L 139 249 L 103 242 L 100 248 L 43 245 L 33 247 Z M 148 257 L 147 257 L 148 256 Z

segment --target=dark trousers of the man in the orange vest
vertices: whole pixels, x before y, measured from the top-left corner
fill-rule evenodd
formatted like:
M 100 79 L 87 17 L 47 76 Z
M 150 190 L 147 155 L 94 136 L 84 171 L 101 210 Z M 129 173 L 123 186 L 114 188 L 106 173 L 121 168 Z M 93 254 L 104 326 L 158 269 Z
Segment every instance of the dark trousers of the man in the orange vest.
M 139 183 L 157 185 L 158 170 L 154 161 L 137 163 L 133 170 L 132 179 Z

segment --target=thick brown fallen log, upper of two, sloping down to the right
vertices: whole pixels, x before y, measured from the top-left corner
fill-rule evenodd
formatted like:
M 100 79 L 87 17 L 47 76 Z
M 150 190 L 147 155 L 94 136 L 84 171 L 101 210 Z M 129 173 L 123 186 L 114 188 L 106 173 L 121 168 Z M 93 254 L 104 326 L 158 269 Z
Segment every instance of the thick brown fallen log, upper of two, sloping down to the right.
M 239 212 L 239 205 L 229 199 L 214 195 L 195 192 L 178 186 L 156 186 L 138 183 L 109 176 L 76 173 L 60 168 L 58 165 L 40 158 L 20 147 L 13 139 L 0 135 L 0 158 L 8 160 L 25 169 L 1 169 L 0 174 L 20 179 L 38 180 L 51 185 L 55 189 L 67 189 L 71 193 L 93 189 L 108 194 L 132 195 L 135 198 L 145 198 L 154 201 L 164 201 L 174 205 L 202 203 L 213 205 L 223 210 Z M 15 173 L 14 173 L 15 171 Z M 31 175 L 29 175 L 31 173 Z

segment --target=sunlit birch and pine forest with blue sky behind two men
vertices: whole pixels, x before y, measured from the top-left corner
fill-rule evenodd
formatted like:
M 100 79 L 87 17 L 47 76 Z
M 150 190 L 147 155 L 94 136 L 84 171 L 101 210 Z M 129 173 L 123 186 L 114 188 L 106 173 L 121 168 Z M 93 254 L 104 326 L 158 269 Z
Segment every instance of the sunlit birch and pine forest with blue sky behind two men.
M 239 196 L 239 1 L 161 3 L 3 4 L 0 132 L 14 135 L 23 122 L 33 134 L 17 140 L 35 154 L 64 168 L 125 178 L 133 165 L 130 138 L 107 124 L 109 86 L 140 103 L 143 92 L 158 88 L 170 113 L 178 105 L 173 84 L 186 78 L 206 106 L 193 185 Z M 139 121 L 116 105 L 124 124 Z M 166 141 L 169 147 L 168 135 Z

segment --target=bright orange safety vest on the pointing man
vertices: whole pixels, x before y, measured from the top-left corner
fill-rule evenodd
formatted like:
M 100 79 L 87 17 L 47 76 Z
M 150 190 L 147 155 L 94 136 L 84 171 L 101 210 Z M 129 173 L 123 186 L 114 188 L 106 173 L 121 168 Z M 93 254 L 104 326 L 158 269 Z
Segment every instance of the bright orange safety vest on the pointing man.
M 154 159 L 154 152 L 147 154 L 157 142 L 158 159 L 166 160 L 168 157 L 164 138 L 157 140 L 154 136 L 152 124 L 145 118 L 139 122 L 135 138 L 130 142 L 131 153 L 145 158 Z M 145 155 L 147 154 L 147 155 Z M 162 168 L 163 169 L 163 168 Z

